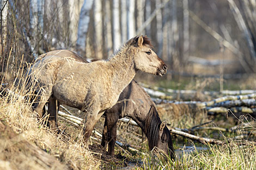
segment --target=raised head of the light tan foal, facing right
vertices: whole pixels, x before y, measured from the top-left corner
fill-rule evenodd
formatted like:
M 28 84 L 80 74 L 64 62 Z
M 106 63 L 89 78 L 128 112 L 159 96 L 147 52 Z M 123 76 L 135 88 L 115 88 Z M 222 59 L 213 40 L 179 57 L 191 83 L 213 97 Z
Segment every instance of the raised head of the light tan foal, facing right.
M 136 48 L 134 61 L 137 70 L 159 76 L 167 72 L 167 65 L 153 51 L 147 36 L 136 36 L 130 42 Z

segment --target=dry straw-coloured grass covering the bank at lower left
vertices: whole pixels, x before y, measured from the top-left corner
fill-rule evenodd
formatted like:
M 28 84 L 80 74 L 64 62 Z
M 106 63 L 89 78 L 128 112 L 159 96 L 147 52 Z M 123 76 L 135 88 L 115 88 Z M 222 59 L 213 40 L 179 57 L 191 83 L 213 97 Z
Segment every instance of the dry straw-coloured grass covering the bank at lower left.
M 39 123 L 32 104 L 25 99 L 33 95 L 20 81 L 22 72 L 19 70 L 19 79 L 8 86 L 10 91 L 1 88 L 0 169 L 99 168 L 100 161 L 81 140 L 57 135 Z

